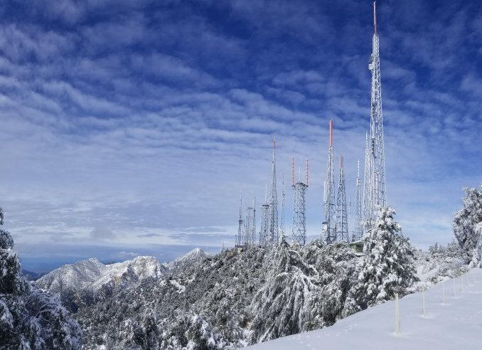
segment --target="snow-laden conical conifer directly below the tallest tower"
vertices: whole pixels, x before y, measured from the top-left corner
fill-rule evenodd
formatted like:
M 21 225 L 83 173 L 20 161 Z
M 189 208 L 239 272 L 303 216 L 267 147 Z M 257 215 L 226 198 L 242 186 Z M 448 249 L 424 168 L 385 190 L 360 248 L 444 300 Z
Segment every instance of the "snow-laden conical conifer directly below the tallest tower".
M 404 294 L 414 282 L 414 248 L 400 232 L 393 220 L 392 207 L 379 208 L 375 226 L 363 237 L 365 260 L 358 276 L 358 298 L 362 307 L 368 307 Z

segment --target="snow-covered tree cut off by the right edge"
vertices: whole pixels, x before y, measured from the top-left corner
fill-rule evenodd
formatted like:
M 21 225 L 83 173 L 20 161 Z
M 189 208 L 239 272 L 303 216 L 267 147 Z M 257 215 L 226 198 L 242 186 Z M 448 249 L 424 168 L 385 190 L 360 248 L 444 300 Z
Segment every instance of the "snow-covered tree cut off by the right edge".
M 454 234 L 459 241 L 466 263 L 471 266 L 481 264 L 481 254 L 477 248 L 481 233 L 476 232 L 478 223 L 482 223 L 482 185 L 481 189 L 464 189 L 466 196 L 462 199 L 463 208 L 455 213 Z

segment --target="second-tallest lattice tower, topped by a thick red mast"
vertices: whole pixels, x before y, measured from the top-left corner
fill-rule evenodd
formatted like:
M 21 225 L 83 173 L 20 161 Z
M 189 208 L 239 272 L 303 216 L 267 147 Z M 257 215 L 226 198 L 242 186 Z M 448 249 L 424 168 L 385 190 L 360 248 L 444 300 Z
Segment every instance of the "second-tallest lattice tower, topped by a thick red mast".
M 330 147 L 328 148 L 328 169 L 326 171 L 326 181 L 323 202 L 325 207 L 325 221 L 323 222 L 323 232 L 321 240 L 326 240 L 326 244 L 336 241 L 335 230 L 335 174 L 333 173 L 333 120 L 330 120 Z

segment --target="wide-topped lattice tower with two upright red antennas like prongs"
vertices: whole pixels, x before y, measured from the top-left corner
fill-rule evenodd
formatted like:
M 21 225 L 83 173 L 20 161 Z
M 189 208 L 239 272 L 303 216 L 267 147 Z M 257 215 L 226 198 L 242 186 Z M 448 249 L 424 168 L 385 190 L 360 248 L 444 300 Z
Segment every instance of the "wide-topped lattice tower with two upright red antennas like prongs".
M 301 177 L 301 176 L 300 176 Z M 308 159 L 306 159 L 306 184 L 299 179 L 294 183 L 294 158 L 291 159 L 291 187 L 294 191 L 293 228 L 291 241 L 306 244 L 306 189 L 308 188 Z

